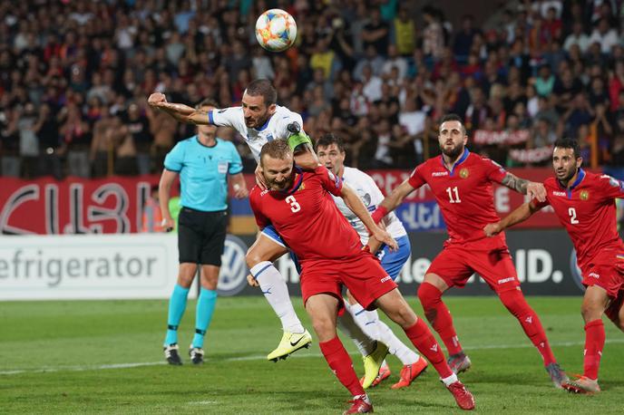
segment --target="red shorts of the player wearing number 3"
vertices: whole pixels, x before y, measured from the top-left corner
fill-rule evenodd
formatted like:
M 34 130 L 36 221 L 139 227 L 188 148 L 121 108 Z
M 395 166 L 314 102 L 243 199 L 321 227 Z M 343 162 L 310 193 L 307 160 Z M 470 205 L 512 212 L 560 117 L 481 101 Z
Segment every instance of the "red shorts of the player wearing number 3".
M 349 259 L 310 259 L 303 261 L 301 267 L 303 304 L 315 294 L 331 294 L 342 302 L 342 286 L 345 285 L 357 302 L 367 308 L 396 288 L 379 260 L 366 251 Z

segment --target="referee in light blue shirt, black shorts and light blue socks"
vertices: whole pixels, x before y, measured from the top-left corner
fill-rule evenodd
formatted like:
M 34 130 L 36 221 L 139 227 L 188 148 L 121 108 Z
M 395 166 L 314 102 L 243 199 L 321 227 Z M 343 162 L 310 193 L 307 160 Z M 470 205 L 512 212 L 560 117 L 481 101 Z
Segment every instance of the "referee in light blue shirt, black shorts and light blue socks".
M 200 111 L 217 108 L 215 101 L 204 100 Z M 178 251 L 180 269 L 171 294 L 164 353 L 170 364 L 182 364 L 178 347 L 178 326 L 186 309 L 187 296 L 197 265 L 201 265 L 200 297 L 195 316 L 195 336 L 190 343 L 190 361 L 203 362 L 204 335 L 210 325 L 217 302 L 217 282 L 221 254 L 228 225 L 228 175 L 236 198 L 248 196 L 242 163 L 234 145 L 217 138 L 217 127 L 199 125 L 197 135 L 181 140 L 164 162 L 159 196 L 162 227 L 174 227 L 169 199 L 171 184 L 180 175 L 180 217 L 178 218 Z

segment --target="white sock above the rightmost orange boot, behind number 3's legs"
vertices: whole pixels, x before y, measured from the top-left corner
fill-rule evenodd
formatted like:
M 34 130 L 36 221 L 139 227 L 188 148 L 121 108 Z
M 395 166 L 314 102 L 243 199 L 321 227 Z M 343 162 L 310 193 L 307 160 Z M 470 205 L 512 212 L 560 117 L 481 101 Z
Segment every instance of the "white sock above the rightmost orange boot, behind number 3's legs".
M 385 343 L 388 346 L 388 352 L 394 354 L 404 365 L 418 362 L 420 359 L 418 353 L 401 342 L 390 327 L 379 320 L 379 314 L 376 310 L 366 311 L 360 304 L 349 305 L 347 310 L 353 314 L 356 323 L 366 334 L 381 343 Z

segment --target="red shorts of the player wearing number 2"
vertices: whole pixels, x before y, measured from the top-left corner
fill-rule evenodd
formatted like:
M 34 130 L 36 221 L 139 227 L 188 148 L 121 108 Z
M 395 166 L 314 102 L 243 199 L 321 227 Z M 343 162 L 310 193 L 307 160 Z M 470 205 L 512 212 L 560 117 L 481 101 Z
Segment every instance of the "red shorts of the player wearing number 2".
M 587 265 L 580 267 L 583 285 L 604 288 L 611 299 L 624 290 L 624 255 L 619 251 L 603 251 Z

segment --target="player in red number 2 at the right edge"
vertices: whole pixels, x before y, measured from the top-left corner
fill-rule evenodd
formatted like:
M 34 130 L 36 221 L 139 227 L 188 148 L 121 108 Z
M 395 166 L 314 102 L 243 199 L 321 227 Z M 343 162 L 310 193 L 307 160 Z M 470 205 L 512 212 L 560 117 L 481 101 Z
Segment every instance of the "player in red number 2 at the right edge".
M 618 235 L 615 199 L 624 198 L 624 183 L 605 174 L 580 169 L 579 144 L 555 142 L 552 166 L 556 178 L 544 181 L 546 201 L 531 200 L 500 222 L 484 227 L 494 236 L 551 205 L 576 249 L 587 287 L 580 307 L 585 321 L 583 376 L 563 384 L 568 391 L 600 392 L 598 370 L 605 343 L 602 314 L 624 331 L 624 244 Z

